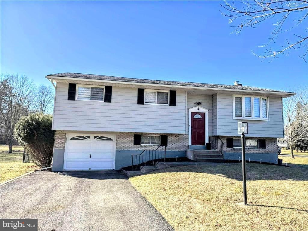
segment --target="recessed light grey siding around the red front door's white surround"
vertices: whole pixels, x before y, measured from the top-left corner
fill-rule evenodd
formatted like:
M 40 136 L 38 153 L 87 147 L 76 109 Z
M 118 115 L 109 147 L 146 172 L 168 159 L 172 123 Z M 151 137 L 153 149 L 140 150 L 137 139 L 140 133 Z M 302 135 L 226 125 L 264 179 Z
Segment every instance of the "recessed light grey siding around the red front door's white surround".
M 201 107 L 204 107 L 209 110 L 208 120 L 209 120 L 209 136 L 213 135 L 213 110 L 212 110 L 212 95 L 197 95 L 197 94 L 187 94 L 187 109 L 191 107 L 196 107 L 196 102 L 201 102 Z M 188 134 L 188 116 L 187 113 L 187 134 Z M 205 121 L 206 123 L 206 121 Z

